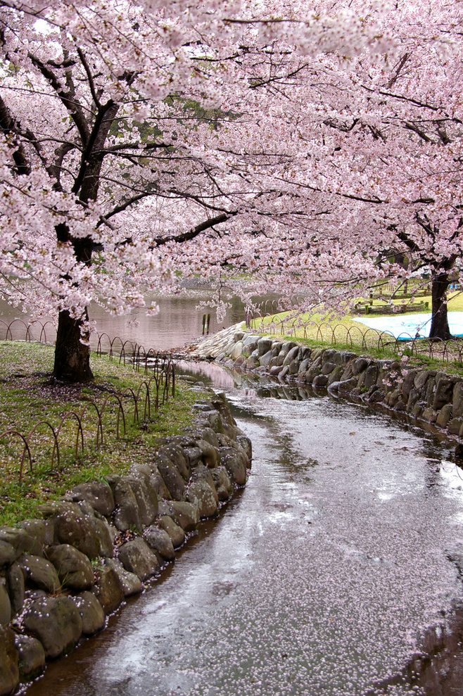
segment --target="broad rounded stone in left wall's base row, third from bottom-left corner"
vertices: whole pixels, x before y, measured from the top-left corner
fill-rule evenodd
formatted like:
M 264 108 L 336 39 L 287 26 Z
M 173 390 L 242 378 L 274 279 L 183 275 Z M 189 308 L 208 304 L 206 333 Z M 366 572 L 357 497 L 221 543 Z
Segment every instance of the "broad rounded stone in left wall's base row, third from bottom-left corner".
M 76 645 L 82 635 L 82 619 L 70 597 L 39 597 L 23 616 L 27 631 L 42 643 L 45 656 L 61 657 Z

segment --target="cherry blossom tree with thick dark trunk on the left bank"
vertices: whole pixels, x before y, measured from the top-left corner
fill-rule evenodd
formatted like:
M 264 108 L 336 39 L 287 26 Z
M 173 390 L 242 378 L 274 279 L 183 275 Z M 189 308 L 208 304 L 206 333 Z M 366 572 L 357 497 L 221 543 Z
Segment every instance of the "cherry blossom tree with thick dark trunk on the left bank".
M 277 2 L 211 0 L 168 8 L 31 0 L 0 2 L 0 11 L 2 292 L 13 303 L 57 308 L 54 375 L 90 379 L 90 300 L 113 312 L 143 304 L 147 289 L 170 278 L 180 242 L 235 216 L 244 229 L 255 199 L 274 192 L 209 151 L 195 131 L 220 120 L 229 132 L 239 106 L 249 126 L 253 119 L 252 139 L 256 105 L 248 108 L 246 95 L 255 65 L 272 69 L 288 46 L 298 55 L 368 39 L 355 13 L 343 28 L 329 13 L 307 14 L 303 3 L 284 15 Z M 274 50 L 280 34 L 283 49 Z M 124 213 L 146 199 L 156 224 L 129 234 Z M 170 210 L 191 203 L 167 234 L 163 201 Z

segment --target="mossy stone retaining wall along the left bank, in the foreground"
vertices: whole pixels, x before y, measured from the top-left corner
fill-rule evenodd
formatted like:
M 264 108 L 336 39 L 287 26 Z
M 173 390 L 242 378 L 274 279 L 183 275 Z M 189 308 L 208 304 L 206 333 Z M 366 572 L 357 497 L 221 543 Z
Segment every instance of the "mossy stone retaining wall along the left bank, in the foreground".
M 246 483 L 250 440 L 224 396 L 194 407 L 194 426 L 165 438 L 151 462 L 77 486 L 44 519 L 0 527 L 0 696 L 101 631 Z

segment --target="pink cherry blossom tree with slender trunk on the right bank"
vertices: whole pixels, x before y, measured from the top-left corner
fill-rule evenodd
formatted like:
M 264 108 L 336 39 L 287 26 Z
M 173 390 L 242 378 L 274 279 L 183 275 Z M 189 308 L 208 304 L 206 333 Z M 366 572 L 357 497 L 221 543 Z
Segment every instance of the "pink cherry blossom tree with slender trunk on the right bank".
M 374 26 L 388 52 L 295 59 L 274 46 L 274 60 L 248 63 L 259 129 L 244 162 L 229 157 L 272 191 L 260 213 L 286 222 L 263 243 L 284 285 L 337 284 L 338 303 L 341 289 L 403 274 L 386 258 L 407 253 L 408 272 L 431 270 L 431 337 L 449 338 L 446 291 L 462 253 L 461 4 L 383 6 Z

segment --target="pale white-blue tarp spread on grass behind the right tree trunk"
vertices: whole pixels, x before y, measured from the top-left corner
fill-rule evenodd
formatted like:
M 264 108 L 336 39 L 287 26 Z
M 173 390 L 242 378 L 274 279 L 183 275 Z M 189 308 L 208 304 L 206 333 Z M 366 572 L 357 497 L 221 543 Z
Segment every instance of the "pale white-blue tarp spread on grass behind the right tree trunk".
M 395 338 L 426 338 L 431 328 L 431 312 L 423 314 L 394 314 L 388 317 L 358 317 L 355 322 L 376 331 L 389 331 Z M 448 312 L 448 324 L 453 336 L 463 336 L 463 312 Z

